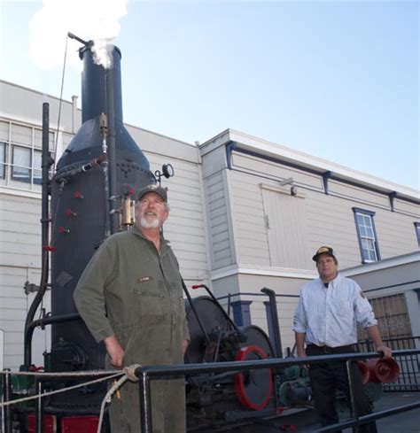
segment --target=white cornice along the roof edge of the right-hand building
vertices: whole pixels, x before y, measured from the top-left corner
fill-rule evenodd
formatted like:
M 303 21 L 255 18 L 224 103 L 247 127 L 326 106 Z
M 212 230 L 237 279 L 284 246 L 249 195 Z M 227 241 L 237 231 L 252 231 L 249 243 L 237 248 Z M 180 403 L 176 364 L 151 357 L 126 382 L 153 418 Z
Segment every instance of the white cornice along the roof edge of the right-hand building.
M 220 134 L 215 135 L 206 143 L 199 146 L 200 150 L 207 151 L 216 141 L 218 145 L 229 142 L 237 142 L 240 148 L 256 151 L 263 155 L 283 159 L 285 162 L 295 164 L 320 175 L 330 172 L 332 177 L 337 180 L 352 182 L 357 185 L 378 189 L 387 194 L 396 192 L 399 197 L 407 197 L 420 201 L 420 191 L 410 188 L 399 183 L 386 181 L 372 174 L 367 174 L 347 166 L 328 161 L 327 159 L 318 158 L 309 155 L 302 151 L 295 151 L 289 147 L 281 144 L 268 142 L 267 140 L 255 137 L 253 135 L 245 134 L 235 129 L 225 129 Z

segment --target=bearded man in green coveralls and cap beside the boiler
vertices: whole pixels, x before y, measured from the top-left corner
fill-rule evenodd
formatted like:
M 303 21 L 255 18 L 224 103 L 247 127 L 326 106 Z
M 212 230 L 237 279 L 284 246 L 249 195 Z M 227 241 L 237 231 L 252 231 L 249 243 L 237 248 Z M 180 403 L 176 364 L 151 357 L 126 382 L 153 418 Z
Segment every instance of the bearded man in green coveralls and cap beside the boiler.
M 178 262 L 160 228 L 169 214 L 167 190 L 141 189 L 136 225 L 105 240 L 84 270 L 74 302 L 107 367 L 183 363 L 190 339 Z M 113 433 L 139 433 L 138 384 L 126 382 L 110 406 Z M 182 379 L 152 382 L 153 433 L 185 432 Z

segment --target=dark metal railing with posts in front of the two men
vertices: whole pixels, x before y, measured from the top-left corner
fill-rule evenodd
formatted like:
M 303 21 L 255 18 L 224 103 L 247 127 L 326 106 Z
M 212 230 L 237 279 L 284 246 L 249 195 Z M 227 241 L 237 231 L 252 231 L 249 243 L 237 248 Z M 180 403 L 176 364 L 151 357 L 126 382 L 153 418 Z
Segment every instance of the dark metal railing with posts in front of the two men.
M 405 350 L 396 351 L 394 356 L 409 356 L 420 354 L 420 350 Z M 209 364 L 189 364 L 175 366 L 150 366 L 139 367 L 136 369 L 136 375 L 139 378 L 139 396 L 140 396 L 140 420 L 143 433 L 152 433 L 152 406 L 151 406 L 151 381 L 156 379 L 170 379 L 183 375 L 198 375 L 202 373 L 237 373 L 253 369 L 261 368 L 280 368 L 291 367 L 303 364 L 319 364 L 325 361 L 346 361 L 346 371 L 349 380 L 350 390 L 350 408 L 353 418 L 349 421 L 339 422 L 337 424 L 323 427 L 315 430 L 316 432 L 336 431 L 342 428 L 354 427 L 357 431 L 358 426 L 369 421 L 384 418 L 392 414 L 399 414 L 420 407 L 420 400 L 415 403 L 410 403 L 404 406 L 394 407 L 374 414 L 363 415 L 360 417 L 354 416 L 354 389 L 352 386 L 352 374 L 350 363 L 355 360 L 365 360 L 367 358 L 380 358 L 381 353 L 378 352 L 362 352 L 362 353 L 345 353 L 339 355 L 321 355 L 311 356 L 307 358 L 286 358 L 286 359 L 268 359 L 268 360 L 253 360 L 239 362 L 214 362 Z

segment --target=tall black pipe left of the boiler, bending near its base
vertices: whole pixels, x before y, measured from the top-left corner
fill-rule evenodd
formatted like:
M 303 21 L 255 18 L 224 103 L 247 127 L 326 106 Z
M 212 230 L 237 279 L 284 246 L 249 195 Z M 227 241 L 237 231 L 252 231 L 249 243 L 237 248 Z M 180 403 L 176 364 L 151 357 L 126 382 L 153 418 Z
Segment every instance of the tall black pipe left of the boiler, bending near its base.
M 32 335 L 29 341 L 27 341 L 26 329 L 29 324 L 34 320 L 36 310 L 43 300 L 43 295 L 47 290 L 48 275 L 50 272 L 49 264 L 49 251 L 44 248 L 50 244 L 49 232 L 50 232 L 50 218 L 49 218 L 49 189 L 50 189 L 50 167 L 52 165 L 52 159 L 49 150 L 50 142 L 50 104 L 43 103 L 43 155 L 42 155 L 42 215 L 41 215 L 41 254 L 42 254 L 42 269 L 41 269 L 41 282 L 39 284 L 39 290 L 36 293 L 34 301 L 32 302 L 27 312 L 27 319 L 25 321 L 25 341 L 24 341 L 24 359 L 25 364 L 20 367 L 21 370 L 28 370 L 32 363 L 32 353 L 29 349 L 32 345 Z

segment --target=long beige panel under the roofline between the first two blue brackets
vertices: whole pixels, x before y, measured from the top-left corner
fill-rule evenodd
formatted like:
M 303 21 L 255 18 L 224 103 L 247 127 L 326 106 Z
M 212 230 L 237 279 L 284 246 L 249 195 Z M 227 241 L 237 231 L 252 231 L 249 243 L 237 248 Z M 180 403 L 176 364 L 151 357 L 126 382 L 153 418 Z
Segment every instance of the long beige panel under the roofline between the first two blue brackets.
M 320 175 L 310 174 L 299 170 L 298 168 L 281 166 L 276 162 L 270 162 L 265 159 L 260 159 L 235 151 L 232 155 L 233 165 L 235 168 L 253 170 L 261 174 L 275 176 L 276 178 L 287 179 L 292 177 L 293 182 L 295 183 L 303 183 L 317 189 L 323 189 L 323 180 Z

